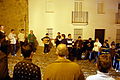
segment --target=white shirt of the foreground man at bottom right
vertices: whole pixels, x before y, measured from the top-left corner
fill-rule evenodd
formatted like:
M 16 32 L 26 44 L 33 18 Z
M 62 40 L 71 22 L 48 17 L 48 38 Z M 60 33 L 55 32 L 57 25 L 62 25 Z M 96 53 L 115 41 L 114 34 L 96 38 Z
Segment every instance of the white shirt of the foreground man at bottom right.
M 115 79 L 110 77 L 108 73 L 102 73 L 100 71 L 97 71 L 96 75 L 88 76 L 86 80 L 115 80 Z

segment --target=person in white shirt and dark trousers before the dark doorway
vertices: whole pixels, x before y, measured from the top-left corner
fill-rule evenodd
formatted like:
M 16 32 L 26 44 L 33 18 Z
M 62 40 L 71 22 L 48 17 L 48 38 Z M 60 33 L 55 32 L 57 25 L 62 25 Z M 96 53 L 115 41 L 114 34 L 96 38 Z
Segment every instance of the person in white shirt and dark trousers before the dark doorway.
M 98 52 L 100 52 L 100 48 L 101 48 L 102 44 L 99 42 L 99 39 L 96 38 L 95 43 L 94 43 L 94 47 L 93 47 L 93 57 L 94 57 L 94 62 L 96 62 L 97 57 L 98 57 Z

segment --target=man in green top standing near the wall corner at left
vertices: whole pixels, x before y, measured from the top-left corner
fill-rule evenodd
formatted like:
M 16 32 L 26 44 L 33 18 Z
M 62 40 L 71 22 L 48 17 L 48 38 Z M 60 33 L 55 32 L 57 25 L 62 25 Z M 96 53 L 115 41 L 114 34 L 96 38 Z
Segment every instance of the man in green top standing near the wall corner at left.
M 30 46 L 33 49 L 33 52 L 36 51 L 36 47 L 35 47 L 35 41 L 36 41 L 36 37 L 33 33 L 33 30 L 30 30 L 30 34 L 28 34 L 28 43 L 30 44 Z

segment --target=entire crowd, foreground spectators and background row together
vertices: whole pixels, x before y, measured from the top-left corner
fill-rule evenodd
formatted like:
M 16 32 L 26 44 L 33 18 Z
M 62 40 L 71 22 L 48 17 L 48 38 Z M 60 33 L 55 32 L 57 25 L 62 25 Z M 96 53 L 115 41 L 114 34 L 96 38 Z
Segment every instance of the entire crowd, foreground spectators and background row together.
M 44 43 L 44 53 L 48 54 L 53 44 L 46 33 L 41 39 Z M 17 43 L 20 43 L 21 56 L 24 59 L 14 66 L 13 80 L 41 80 L 40 68 L 32 63 L 32 57 L 36 51 L 36 37 L 33 30 L 25 36 L 24 29 L 20 30 L 18 36 L 15 30 L 11 29 L 7 36 L 4 32 L 4 26 L 0 25 L 0 80 L 10 80 L 8 73 L 8 54 L 16 56 Z M 81 36 L 74 41 L 71 34 L 66 38 L 65 34 L 58 32 L 54 39 L 56 44 L 56 53 L 58 59 L 48 65 L 43 74 L 43 80 L 85 80 L 84 74 L 80 69 L 80 65 L 73 62 L 74 60 L 88 59 L 97 63 L 97 74 L 89 76 L 86 80 L 114 80 L 108 75 L 109 70 L 113 67 L 120 69 L 120 44 L 112 42 L 108 44 L 105 40 L 103 44 L 96 38 L 82 40 Z

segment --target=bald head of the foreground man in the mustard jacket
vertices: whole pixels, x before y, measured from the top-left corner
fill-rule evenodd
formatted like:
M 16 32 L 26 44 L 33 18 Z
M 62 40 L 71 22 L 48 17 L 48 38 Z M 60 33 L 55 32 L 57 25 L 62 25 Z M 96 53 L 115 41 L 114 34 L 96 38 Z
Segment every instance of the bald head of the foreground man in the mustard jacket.
M 65 44 L 59 44 L 57 47 L 57 54 L 60 57 L 64 57 L 68 55 L 68 49 Z

